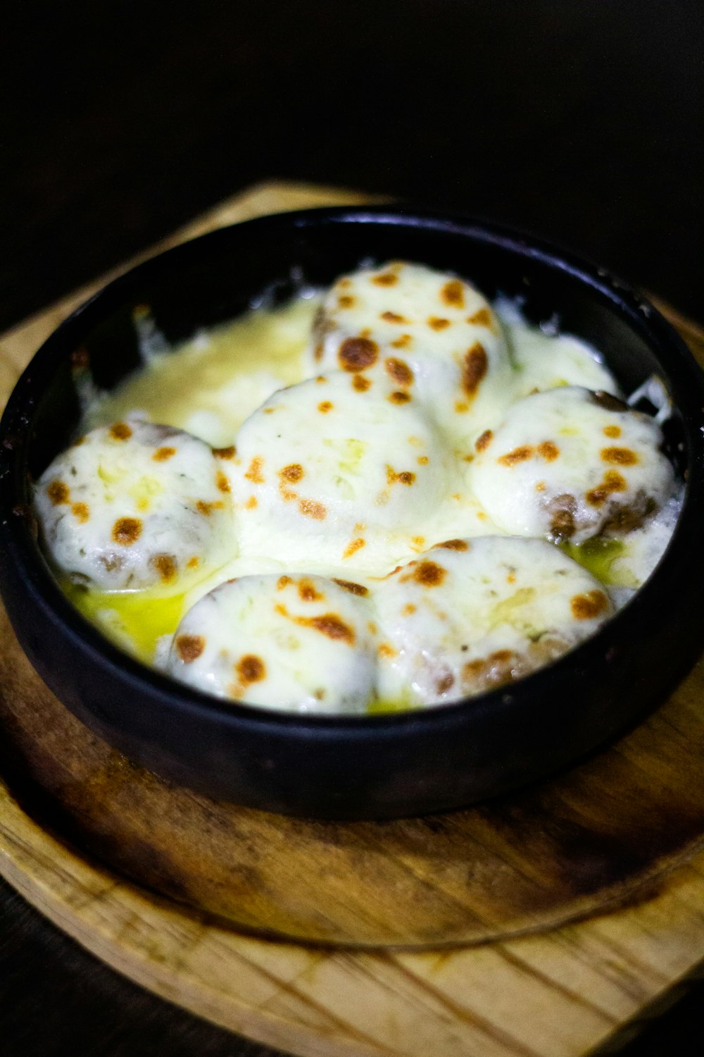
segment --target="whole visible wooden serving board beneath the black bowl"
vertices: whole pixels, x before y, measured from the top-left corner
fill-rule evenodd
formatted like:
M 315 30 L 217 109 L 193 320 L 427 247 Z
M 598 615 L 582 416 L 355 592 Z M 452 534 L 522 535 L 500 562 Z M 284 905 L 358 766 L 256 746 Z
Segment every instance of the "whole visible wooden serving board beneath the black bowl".
M 168 244 L 361 201 L 265 185 Z M 2 339 L 0 398 L 90 293 Z M 704 334 L 673 321 L 704 358 Z M 577 1057 L 704 959 L 703 701 L 700 662 L 550 781 L 445 816 L 306 822 L 131 764 L 53 698 L 1 614 L 0 872 L 114 968 L 285 1051 Z

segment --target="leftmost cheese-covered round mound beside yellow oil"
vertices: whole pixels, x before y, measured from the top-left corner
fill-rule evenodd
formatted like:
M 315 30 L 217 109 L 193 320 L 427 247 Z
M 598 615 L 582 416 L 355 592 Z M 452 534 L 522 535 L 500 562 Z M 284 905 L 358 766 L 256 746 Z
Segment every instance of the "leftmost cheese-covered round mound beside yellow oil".
M 101 591 L 171 587 L 223 564 L 235 551 L 232 453 L 140 421 L 87 433 L 36 485 L 53 562 Z

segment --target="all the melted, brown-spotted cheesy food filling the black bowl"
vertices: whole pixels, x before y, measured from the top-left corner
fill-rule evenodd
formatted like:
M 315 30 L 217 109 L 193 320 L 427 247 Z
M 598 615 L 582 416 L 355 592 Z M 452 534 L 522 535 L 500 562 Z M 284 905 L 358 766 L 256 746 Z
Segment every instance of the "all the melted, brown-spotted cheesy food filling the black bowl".
M 170 352 L 142 316 L 144 369 L 87 408 L 94 432 L 81 447 L 95 449 L 92 468 L 76 462 L 81 447 L 64 452 L 39 482 L 37 507 L 55 564 L 88 585 L 70 588 L 81 611 L 194 686 L 304 711 L 479 692 L 592 633 L 667 544 L 679 498 L 655 423 L 586 394 L 621 395 L 589 346 L 528 326 L 507 302 L 494 312 L 455 276 L 402 262 L 365 268 L 322 297 L 252 311 Z M 128 419 L 141 448 L 129 471 L 116 470 L 106 437 Z M 183 479 L 161 476 L 168 461 L 149 462 L 155 449 L 142 430 L 161 427 L 146 420 L 201 439 L 189 438 L 194 461 Z M 207 445 L 236 455 L 213 458 Z M 517 448 L 530 458 L 498 461 Z M 96 458 L 107 475 L 96 476 Z M 230 489 L 218 492 L 225 507 L 193 521 L 194 500 L 197 511 L 197 499 L 217 499 L 208 490 L 214 464 Z M 104 506 L 92 535 L 46 493 L 73 468 L 96 511 Z M 590 504 L 605 470 L 625 487 Z M 120 572 L 104 560 L 113 493 L 133 504 L 123 517 L 147 503 L 173 521 L 163 538 L 145 520 L 140 550 Z M 553 507 L 566 496 L 574 528 L 563 516 L 556 531 Z M 456 550 L 430 550 L 449 539 Z M 187 572 L 186 551 L 197 571 Z M 171 583 L 150 573 L 159 554 L 176 559 Z M 443 570 L 437 590 L 414 578 L 427 562 Z M 321 596 L 320 612 L 296 594 L 303 581 Z M 578 617 L 575 597 L 587 599 Z M 328 630 L 351 629 L 354 646 L 346 633 L 301 623 L 326 615 L 341 622 Z

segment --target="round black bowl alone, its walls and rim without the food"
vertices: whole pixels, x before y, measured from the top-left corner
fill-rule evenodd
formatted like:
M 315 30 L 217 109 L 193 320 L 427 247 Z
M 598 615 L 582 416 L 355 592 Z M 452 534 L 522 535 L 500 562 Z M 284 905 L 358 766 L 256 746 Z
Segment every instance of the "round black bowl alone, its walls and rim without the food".
M 669 444 L 686 476 L 670 546 L 594 637 L 508 688 L 453 705 L 327 718 L 223 703 L 113 646 L 64 598 L 28 513 L 30 482 L 72 440 L 76 364 L 109 388 L 138 366 L 132 322 L 152 308 L 173 341 L 231 319 L 265 290 L 285 299 L 361 260 L 457 272 L 490 298 L 525 298 L 535 321 L 601 349 L 625 391 L 650 374 L 676 406 Z M 73 365 L 73 366 L 72 366 Z M 84 369 L 84 366 L 83 366 Z M 294 815 L 383 818 L 460 806 L 559 768 L 660 702 L 704 641 L 704 385 L 655 310 L 603 271 L 511 231 L 402 209 L 319 209 L 225 228 L 107 286 L 39 350 L 2 420 L 0 586 L 19 641 L 59 699 L 158 774 L 216 797 Z

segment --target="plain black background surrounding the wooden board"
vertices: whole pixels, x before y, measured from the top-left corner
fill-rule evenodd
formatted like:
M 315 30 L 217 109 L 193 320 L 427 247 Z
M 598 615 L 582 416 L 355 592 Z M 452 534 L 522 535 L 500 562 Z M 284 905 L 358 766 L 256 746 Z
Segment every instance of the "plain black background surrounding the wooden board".
M 275 177 L 514 224 L 704 321 L 700 0 L 6 0 L 0 25 L 0 330 Z M 701 1002 L 624 1057 L 700 1054 Z M 0 1038 L 7 1057 L 264 1053 L 3 885 Z

